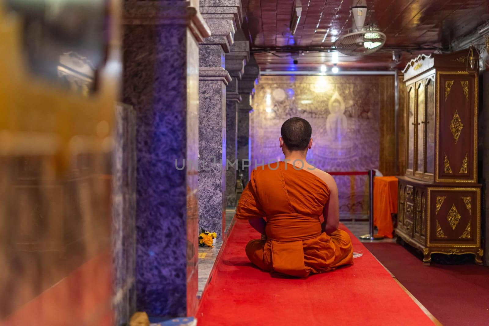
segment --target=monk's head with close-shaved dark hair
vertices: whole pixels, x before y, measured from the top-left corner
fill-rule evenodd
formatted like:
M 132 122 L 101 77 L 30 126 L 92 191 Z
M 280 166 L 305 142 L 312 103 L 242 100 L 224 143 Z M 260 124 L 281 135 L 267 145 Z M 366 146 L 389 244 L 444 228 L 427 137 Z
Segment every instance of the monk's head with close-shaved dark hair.
M 290 151 L 304 151 L 311 140 L 311 124 L 302 118 L 290 118 L 280 129 L 284 144 Z

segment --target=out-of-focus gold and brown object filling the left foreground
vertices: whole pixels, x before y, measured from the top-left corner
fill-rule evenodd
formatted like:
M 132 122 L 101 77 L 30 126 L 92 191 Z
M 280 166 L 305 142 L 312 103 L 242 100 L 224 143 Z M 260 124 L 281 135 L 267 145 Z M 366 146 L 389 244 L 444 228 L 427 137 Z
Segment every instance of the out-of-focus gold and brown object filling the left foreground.
M 0 2 L 2 325 L 113 324 L 117 5 Z

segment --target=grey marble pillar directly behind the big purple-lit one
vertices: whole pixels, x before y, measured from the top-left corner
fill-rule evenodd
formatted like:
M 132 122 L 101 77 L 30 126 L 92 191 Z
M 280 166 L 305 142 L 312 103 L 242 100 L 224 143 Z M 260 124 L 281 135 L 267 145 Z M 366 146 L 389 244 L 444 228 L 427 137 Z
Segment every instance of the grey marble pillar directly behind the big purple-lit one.
M 200 0 L 211 36 L 200 42 L 199 57 L 199 228 L 225 229 L 226 85 L 231 77 L 224 53 L 242 22 L 241 1 Z

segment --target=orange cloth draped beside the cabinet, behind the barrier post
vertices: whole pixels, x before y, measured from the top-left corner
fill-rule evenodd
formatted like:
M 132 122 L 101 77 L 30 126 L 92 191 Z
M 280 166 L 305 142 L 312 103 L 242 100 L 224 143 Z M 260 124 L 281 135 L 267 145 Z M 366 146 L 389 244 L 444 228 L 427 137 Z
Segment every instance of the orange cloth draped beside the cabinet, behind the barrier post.
M 391 214 L 397 213 L 398 179 L 396 177 L 374 178 L 374 225 L 378 235 L 392 238 Z

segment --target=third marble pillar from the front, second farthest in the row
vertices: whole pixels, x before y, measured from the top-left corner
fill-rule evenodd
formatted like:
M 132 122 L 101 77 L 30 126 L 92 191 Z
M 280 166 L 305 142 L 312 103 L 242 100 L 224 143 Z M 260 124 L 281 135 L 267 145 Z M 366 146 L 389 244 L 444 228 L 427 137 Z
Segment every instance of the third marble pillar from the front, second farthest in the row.
M 230 52 L 225 54 L 226 70 L 232 81 L 226 87 L 226 208 L 236 206 L 236 175 L 238 170 L 238 103 L 241 102 L 239 82 L 249 60 L 249 42 L 238 30 Z

